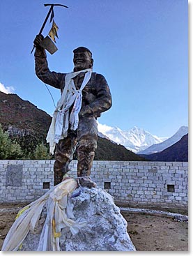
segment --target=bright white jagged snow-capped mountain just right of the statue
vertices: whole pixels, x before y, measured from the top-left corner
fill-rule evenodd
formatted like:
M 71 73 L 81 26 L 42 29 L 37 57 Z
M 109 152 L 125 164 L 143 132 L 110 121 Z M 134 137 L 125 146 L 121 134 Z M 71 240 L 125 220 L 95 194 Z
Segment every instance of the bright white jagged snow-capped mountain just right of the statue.
M 151 135 L 142 128 L 134 128 L 124 131 L 118 127 L 111 127 L 98 123 L 98 131 L 108 137 L 109 140 L 125 146 L 127 149 L 137 153 L 148 148 L 152 144 L 160 143 L 163 140 L 155 135 Z

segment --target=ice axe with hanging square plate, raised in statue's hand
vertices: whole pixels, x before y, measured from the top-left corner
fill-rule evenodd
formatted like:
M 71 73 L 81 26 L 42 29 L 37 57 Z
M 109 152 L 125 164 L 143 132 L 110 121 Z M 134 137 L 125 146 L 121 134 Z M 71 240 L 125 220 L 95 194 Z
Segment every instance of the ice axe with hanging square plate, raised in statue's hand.
M 44 6 L 50 6 L 49 8 L 49 12 L 47 13 L 47 16 L 45 17 L 45 21 L 43 23 L 43 26 L 40 29 L 40 32 L 38 33 L 38 35 L 40 35 L 43 32 L 43 29 L 45 28 L 45 24 L 49 18 L 50 13 L 52 13 L 52 10 L 54 9 L 54 6 L 63 6 L 65 8 L 68 8 L 68 6 L 64 6 L 63 4 L 58 4 L 58 3 L 45 3 Z M 43 48 L 45 48 L 49 53 L 53 54 L 54 52 L 56 52 L 57 47 L 56 45 L 54 45 L 54 43 L 52 42 L 52 40 L 49 38 L 49 36 L 47 36 L 42 42 L 41 45 Z M 35 45 L 33 45 L 33 49 L 31 50 L 31 54 L 33 52 L 35 48 Z

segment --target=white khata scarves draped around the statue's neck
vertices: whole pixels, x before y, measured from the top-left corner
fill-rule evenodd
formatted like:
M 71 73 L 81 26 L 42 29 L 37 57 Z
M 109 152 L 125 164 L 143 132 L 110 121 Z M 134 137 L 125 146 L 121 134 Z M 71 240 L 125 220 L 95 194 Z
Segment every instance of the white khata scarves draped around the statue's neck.
M 73 77 L 79 73 L 85 72 L 82 86 L 79 90 L 76 89 Z M 49 143 L 49 152 L 54 153 L 54 148 L 59 140 L 62 140 L 68 135 L 68 128 L 70 123 L 71 130 L 77 130 L 79 123 L 79 111 L 82 107 L 82 90 L 91 79 L 92 69 L 84 69 L 77 72 L 71 72 L 65 75 L 65 86 L 56 110 L 52 117 L 52 123 L 47 133 L 47 143 Z M 72 106 L 71 113 L 69 109 Z

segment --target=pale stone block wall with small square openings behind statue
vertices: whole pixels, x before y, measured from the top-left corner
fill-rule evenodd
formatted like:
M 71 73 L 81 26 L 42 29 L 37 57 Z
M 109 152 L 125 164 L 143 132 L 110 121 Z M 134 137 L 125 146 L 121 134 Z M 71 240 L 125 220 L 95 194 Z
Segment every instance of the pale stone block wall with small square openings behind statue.
M 31 202 L 53 186 L 54 160 L 0 160 L 0 203 Z M 70 164 L 76 176 L 77 161 Z M 91 177 L 117 202 L 187 205 L 188 163 L 94 161 Z

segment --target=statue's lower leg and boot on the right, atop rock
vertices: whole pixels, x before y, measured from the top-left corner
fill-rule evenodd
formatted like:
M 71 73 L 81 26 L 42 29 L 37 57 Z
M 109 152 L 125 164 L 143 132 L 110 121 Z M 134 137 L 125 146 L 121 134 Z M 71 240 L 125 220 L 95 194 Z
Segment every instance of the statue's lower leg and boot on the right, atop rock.
M 82 187 L 95 188 L 96 186 L 96 183 L 94 183 L 90 177 L 94 157 L 95 152 L 77 151 L 77 176 L 79 184 Z

